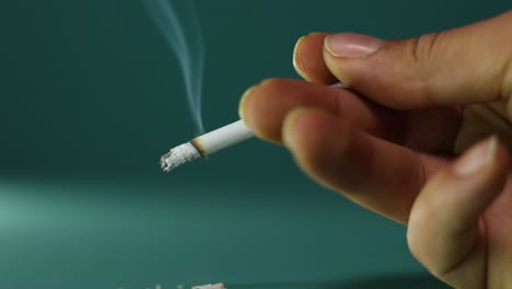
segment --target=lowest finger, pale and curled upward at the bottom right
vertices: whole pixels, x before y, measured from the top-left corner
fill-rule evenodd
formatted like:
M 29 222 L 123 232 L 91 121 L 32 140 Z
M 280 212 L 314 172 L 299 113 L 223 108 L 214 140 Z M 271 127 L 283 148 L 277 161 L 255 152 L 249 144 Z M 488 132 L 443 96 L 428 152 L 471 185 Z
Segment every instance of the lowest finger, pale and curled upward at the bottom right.
M 480 216 L 502 190 L 507 174 L 507 149 L 492 137 L 441 170 L 412 207 L 407 234 L 412 254 L 455 288 L 486 287 Z

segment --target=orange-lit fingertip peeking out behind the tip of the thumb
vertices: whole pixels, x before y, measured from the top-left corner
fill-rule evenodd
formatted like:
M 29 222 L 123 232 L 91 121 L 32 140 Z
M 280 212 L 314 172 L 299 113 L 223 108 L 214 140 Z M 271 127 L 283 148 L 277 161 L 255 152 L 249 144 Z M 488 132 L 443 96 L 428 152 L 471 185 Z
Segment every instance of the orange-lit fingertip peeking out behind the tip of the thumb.
M 325 65 L 321 53 L 328 33 L 312 33 L 302 36 L 293 49 L 293 67 L 296 73 L 310 82 L 331 84 L 336 78 Z

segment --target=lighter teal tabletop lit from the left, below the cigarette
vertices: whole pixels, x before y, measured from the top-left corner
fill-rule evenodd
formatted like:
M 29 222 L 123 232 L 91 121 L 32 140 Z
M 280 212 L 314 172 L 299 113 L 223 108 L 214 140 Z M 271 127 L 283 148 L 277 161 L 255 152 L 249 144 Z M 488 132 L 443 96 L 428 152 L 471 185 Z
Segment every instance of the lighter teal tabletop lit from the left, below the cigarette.
M 0 287 L 445 288 L 404 227 L 300 186 L 1 180 Z

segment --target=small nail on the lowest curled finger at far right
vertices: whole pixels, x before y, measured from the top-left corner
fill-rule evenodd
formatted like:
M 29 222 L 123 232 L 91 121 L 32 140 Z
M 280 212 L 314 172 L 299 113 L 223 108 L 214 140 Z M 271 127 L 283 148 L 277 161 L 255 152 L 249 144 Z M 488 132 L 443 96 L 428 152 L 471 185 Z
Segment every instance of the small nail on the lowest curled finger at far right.
M 462 159 L 455 163 L 455 173 L 461 176 L 475 175 L 485 166 L 492 163 L 496 158 L 497 148 L 498 137 L 496 136 L 478 143 L 476 147 L 469 149 L 468 153 L 463 155 Z

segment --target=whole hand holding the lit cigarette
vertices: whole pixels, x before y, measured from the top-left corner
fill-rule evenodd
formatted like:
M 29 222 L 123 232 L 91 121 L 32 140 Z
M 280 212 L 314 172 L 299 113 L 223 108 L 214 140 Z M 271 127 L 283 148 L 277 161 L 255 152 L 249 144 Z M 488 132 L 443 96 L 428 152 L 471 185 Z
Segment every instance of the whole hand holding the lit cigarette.
M 407 224 L 438 278 L 510 288 L 511 31 L 509 11 L 407 41 L 310 34 L 293 59 L 309 82 L 266 80 L 241 116 L 317 182 Z M 338 80 L 350 90 L 326 86 Z

